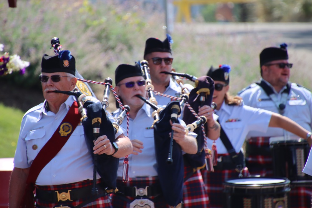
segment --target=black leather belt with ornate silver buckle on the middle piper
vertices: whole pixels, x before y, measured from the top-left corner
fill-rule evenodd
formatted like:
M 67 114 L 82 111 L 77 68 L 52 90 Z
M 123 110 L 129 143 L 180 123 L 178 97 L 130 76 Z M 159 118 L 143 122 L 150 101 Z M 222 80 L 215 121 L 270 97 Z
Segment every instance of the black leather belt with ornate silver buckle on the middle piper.
M 162 193 L 160 186 L 146 186 L 146 187 L 132 187 L 132 186 L 119 186 L 118 192 L 124 196 L 136 197 L 136 196 L 157 196 Z

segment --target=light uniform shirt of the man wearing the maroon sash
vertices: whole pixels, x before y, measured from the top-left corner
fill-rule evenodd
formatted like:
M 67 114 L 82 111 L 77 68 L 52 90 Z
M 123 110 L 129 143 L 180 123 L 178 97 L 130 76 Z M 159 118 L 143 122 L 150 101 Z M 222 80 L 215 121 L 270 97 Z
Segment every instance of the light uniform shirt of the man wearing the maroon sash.
M 30 167 L 38 152 L 65 118 L 74 98 L 69 96 L 65 103 L 61 104 L 56 114 L 46 110 L 45 102 L 28 110 L 22 119 L 14 167 Z M 115 122 L 112 116 L 110 116 L 110 120 Z M 123 132 L 124 130 L 119 128 L 116 138 Z M 36 145 L 37 149 L 34 150 L 33 145 Z M 100 176 L 97 175 L 97 178 Z M 41 186 L 58 185 L 86 179 L 93 179 L 93 163 L 85 143 L 83 126 L 78 125 L 61 150 L 41 170 L 36 184 Z

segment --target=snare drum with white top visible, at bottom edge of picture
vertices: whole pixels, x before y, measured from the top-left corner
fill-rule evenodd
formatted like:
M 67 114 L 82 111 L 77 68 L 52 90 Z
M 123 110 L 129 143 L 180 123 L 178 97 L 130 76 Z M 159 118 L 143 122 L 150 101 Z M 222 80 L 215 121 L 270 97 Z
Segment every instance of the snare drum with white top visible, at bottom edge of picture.
M 289 208 L 290 180 L 246 177 L 225 181 L 225 208 Z

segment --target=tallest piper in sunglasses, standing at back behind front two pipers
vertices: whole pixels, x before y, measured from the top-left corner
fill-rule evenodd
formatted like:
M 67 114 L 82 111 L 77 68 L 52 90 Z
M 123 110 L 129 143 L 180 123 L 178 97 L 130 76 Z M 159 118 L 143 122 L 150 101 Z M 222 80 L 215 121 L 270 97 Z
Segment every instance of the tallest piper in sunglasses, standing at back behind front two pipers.
M 171 75 L 164 74 L 162 72 L 171 72 L 173 56 L 171 51 L 171 45 L 173 40 L 171 36 L 167 34 L 167 38 L 164 41 L 160 41 L 158 38 L 149 38 L 145 43 L 144 59 L 149 62 L 150 76 L 154 89 L 160 93 L 168 94 L 171 96 L 179 97 L 182 89 L 176 81 L 171 79 Z M 189 84 L 184 84 L 184 87 L 191 91 L 194 87 Z M 156 95 L 156 100 L 159 105 L 166 105 L 170 102 L 170 98 Z M 217 139 L 220 134 L 220 125 L 213 119 L 213 110 L 210 106 L 204 105 L 200 109 L 195 109 L 200 116 L 206 116 L 208 126 L 207 135 L 211 139 Z M 193 168 L 190 167 L 192 170 Z M 188 170 L 186 166 L 186 172 L 192 172 Z M 185 172 L 185 175 L 189 175 Z M 189 177 L 189 176 L 188 176 Z M 184 207 L 209 207 L 209 199 L 206 191 L 205 184 L 202 180 L 202 175 L 197 170 L 192 176 L 186 179 L 183 188 Z

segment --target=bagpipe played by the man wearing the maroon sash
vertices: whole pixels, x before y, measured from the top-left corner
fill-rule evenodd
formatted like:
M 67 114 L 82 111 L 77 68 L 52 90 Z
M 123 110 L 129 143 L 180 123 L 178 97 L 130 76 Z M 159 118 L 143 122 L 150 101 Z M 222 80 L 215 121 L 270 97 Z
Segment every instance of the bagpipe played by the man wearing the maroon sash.
M 56 54 L 58 54 L 58 52 L 61 50 L 59 39 L 56 37 L 53 38 L 51 40 L 51 44 L 54 48 L 54 51 L 57 51 Z M 75 88 L 75 91 L 56 90 L 54 92 L 73 95 L 77 99 L 78 111 L 81 114 L 80 122 L 84 128 L 85 142 L 94 164 L 92 194 L 98 194 L 98 190 L 96 188 L 96 173 L 100 175 L 102 180 L 100 186 L 102 186 L 102 188 L 105 189 L 107 193 L 115 192 L 119 159 L 106 154 L 94 154 L 94 140 L 102 135 L 106 135 L 111 143 L 115 142 L 115 134 L 118 132 L 119 125 L 122 123 L 125 116 L 129 114 L 130 107 L 127 105 L 120 106 L 122 111 L 115 119 L 115 122 L 112 123 L 107 117 L 108 113 L 106 111 L 106 108 L 109 105 L 108 100 L 110 96 L 110 88 L 112 88 L 112 80 L 110 78 L 106 78 L 105 83 L 84 80 L 77 72 L 77 69 L 76 77 L 78 77 L 76 84 L 78 89 Z M 103 100 L 101 102 L 98 102 L 98 100 L 95 99 L 96 97 L 93 94 L 90 86 L 87 85 L 87 83 L 85 85 L 84 82 L 105 85 Z M 114 92 L 113 88 L 112 91 Z M 116 99 L 118 98 L 116 97 Z

